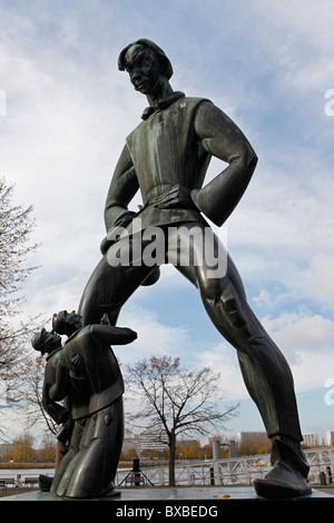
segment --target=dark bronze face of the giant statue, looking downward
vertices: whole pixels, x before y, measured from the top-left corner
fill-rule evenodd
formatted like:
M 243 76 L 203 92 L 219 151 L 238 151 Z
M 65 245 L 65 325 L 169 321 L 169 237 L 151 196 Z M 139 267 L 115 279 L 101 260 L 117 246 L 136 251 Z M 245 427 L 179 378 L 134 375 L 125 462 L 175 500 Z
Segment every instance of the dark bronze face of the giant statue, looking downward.
M 137 91 L 153 95 L 160 76 L 160 63 L 156 55 L 144 46 L 131 46 L 125 57 L 125 69 Z

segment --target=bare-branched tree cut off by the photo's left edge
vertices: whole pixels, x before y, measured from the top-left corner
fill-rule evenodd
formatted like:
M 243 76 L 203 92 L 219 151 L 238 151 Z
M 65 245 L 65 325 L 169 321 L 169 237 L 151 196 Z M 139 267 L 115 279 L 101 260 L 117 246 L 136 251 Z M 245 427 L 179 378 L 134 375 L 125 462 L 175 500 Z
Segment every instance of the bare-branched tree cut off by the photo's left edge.
M 0 180 L 0 382 L 1 408 L 18 402 L 22 395 L 18 382 L 24 375 L 29 336 L 37 318 L 14 320 L 23 297 L 20 284 L 36 267 L 27 265 L 28 256 L 38 247 L 29 245 L 35 221 L 32 206 L 12 205 L 13 187 Z

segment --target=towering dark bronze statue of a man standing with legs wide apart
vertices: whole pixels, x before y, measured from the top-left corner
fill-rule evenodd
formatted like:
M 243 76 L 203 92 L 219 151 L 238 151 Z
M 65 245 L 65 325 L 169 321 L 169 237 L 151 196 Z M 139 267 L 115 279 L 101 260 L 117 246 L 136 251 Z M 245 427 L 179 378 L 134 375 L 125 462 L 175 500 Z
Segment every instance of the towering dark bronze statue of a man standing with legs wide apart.
M 143 121 L 127 137 L 117 162 L 105 208 L 107 238 L 102 259 L 84 292 L 79 314 L 85 325 L 98 323 L 107 313 L 116 324 L 121 306 L 139 285 L 154 283 L 159 265 L 138 263 L 138 237 L 159 228 L 168 236 L 166 260 L 199 290 L 205 309 L 219 333 L 236 348 L 242 374 L 272 440 L 273 468 L 255 482 L 258 495 L 283 497 L 311 492 L 308 465 L 301 450 L 302 434 L 288 364 L 250 309 L 239 274 L 226 256 L 226 270 L 209 277 L 203 243 L 189 234 L 212 230 L 207 218 L 222 226 L 242 198 L 256 167 L 257 157 L 240 129 L 212 101 L 175 92 L 169 79 L 173 67 L 164 51 L 150 40 L 127 46 L 119 56 L 135 89 L 146 95 L 148 108 Z M 204 185 L 212 157 L 227 166 Z M 143 206 L 128 209 L 140 190 Z M 115 239 L 121 227 L 128 236 Z M 138 236 L 139 235 L 139 236 Z M 178 237 L 178 253 L 169 253 L 170 236 Z M 171 238 L 173 239 L 173 238 Z M 219 241 L 214 239 L 217 247 Z M 136 247 L 136 249 L 135 249 Z M 128 250 L 127 264 L 110 263 L 115 248 Z M 114 250 L 112 250 L 114 249 Z M 190 250 L 202 264 L 183 264 L 183 250 Z M 143 250 L 144 251 L 144 250 Z M 111 253 L 112 254 L 112 253 Z M 193 259 L 193 258 L 191 258 Z M 164 263 L 164 260 L 163 260 Z

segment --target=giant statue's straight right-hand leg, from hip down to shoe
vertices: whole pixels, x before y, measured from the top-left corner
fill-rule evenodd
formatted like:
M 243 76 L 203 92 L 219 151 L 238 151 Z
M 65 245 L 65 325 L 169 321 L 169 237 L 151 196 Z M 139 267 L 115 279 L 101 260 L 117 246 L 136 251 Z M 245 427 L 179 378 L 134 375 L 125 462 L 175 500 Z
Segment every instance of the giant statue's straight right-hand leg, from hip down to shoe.
M 258 407 L 268 436 L 273 440 L 273 463 L 277 462 L 282 468 L 283 465 L 279 461 L 282 456 L 285 456 L 286 462 L 289 448 L 296 450 L 291 453 L 289 461 L 293 462 L 293 467 L 297 467 L 301 472 L 302 480 L 296 489 L 291 485 L 288 489 L 294 495 L 297 495 L 297 492 L 299 495 L 308 493 L 310 486 L 305 482 L 308 466 L 299 450 L 302 434 L 289 366 L 250 309 L 240 277 L 232 259 L 226 254 L 226 274 L 213 277 L 213 267 L 207 265 L 206 254 L 202 251 L 196 255 L 196 249 L 203 249 L 204 244 L 190 241 L 191 249 L 195 251 L 195 260 L 197 258 L 203 262 L 200 265 L 194 263 L 193 266 L 178 263 L 177 268 L 198 287 L 212 322 L 237 349 L 246 387 Z M 217 238 L 214 241 L 218 241 Z M 184 234 L 184 237 L 180 235 L 180 248 L 181 246 L 185 249 L 189 248 L 187 233 Z M 220 246 L 220 256 L 222 253 L 223 247 Z M 274 472 L 272 474 L 275 476 Z M 276 476 L 273 481 L 278 482 Z M 292 483 L 291 478 L 288 483 Z M 284 493 L 286 495 L 288 489 L 276 489 L 276 494 L 283 495 Z M 259 482 L 259 490 L 265 495 L 268 482 L 264 485 Z

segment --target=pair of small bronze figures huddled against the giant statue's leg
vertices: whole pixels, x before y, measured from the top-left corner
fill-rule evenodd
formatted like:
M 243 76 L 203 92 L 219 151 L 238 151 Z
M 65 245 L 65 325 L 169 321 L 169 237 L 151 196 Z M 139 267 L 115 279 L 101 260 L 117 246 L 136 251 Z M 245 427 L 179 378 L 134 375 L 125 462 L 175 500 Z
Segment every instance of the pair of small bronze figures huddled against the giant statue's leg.
M 78 499 L 118 495 L 114 480 L 124 437 L 124 382 L 111 344 L 131 343 L 137 335 L 110 325 L 82 327 L 81 318 L 66 310 L 52 324 L 69 336 L 63 346 L 57 333 L 46 329 L 31 342 L 48 354 L 43 406 L 63 424 L 58 438 L 68 444 L 50 492 Z

